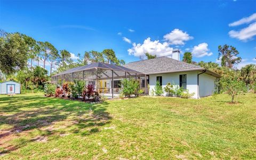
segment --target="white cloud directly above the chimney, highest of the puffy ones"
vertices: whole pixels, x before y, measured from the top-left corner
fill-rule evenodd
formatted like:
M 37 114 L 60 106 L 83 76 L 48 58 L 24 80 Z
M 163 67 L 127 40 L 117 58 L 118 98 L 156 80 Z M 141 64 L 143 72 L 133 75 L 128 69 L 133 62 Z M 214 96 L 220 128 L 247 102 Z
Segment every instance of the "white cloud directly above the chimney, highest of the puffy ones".
M 193 39 L 193 37 L 180 29 L 173 29 L 171 33 L 164 35 L 164 40 L 171 45 L 184 45 L 185 41 L 190 39 Z

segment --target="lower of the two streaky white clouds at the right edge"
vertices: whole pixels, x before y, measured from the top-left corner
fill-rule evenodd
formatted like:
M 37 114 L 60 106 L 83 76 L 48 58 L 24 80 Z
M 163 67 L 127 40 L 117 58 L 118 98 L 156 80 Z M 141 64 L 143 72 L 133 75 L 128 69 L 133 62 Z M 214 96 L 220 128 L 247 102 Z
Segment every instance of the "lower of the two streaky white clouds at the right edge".
M 230 30 L 228 34 L 231 38 L 237 38 L 241 41 L 247 41 L 248 39 L 252 39 L 253 36 L 256 35 L 256 22 L 239 31 Z

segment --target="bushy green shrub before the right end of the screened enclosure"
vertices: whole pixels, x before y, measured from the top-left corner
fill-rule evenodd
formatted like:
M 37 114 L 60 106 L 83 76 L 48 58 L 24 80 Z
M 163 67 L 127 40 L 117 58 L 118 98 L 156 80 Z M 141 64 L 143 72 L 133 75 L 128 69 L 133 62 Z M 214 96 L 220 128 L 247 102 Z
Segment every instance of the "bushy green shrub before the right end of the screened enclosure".
M 135 95 L 139 83 L 136 82 L 134 79 L 123 79 L 122 80 L 123 85 L 123 91 L 122 93 L 125 95 L 125 97 L 131 97 L 131 95 Z

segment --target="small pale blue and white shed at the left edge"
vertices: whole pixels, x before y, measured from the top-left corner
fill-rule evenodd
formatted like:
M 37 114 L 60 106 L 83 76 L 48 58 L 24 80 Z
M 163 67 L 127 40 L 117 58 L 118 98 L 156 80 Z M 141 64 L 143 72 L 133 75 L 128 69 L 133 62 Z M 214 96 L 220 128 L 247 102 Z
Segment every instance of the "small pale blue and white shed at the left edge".
M 0 83 L 0 94 L 20 94 L 20 84 L 14 81 Z

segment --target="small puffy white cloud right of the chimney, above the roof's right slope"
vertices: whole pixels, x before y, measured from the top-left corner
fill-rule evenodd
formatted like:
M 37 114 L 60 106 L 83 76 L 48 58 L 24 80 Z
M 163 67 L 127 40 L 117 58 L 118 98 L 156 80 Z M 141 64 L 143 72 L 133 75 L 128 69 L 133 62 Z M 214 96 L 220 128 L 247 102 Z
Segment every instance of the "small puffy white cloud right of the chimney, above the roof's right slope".
M 207 43 L 201 43 L 193 47 L 192 55 L 195 57 L 204 57 L 205 55 L 210 56 L 213 53 L 209 52 L 208 44 Z

